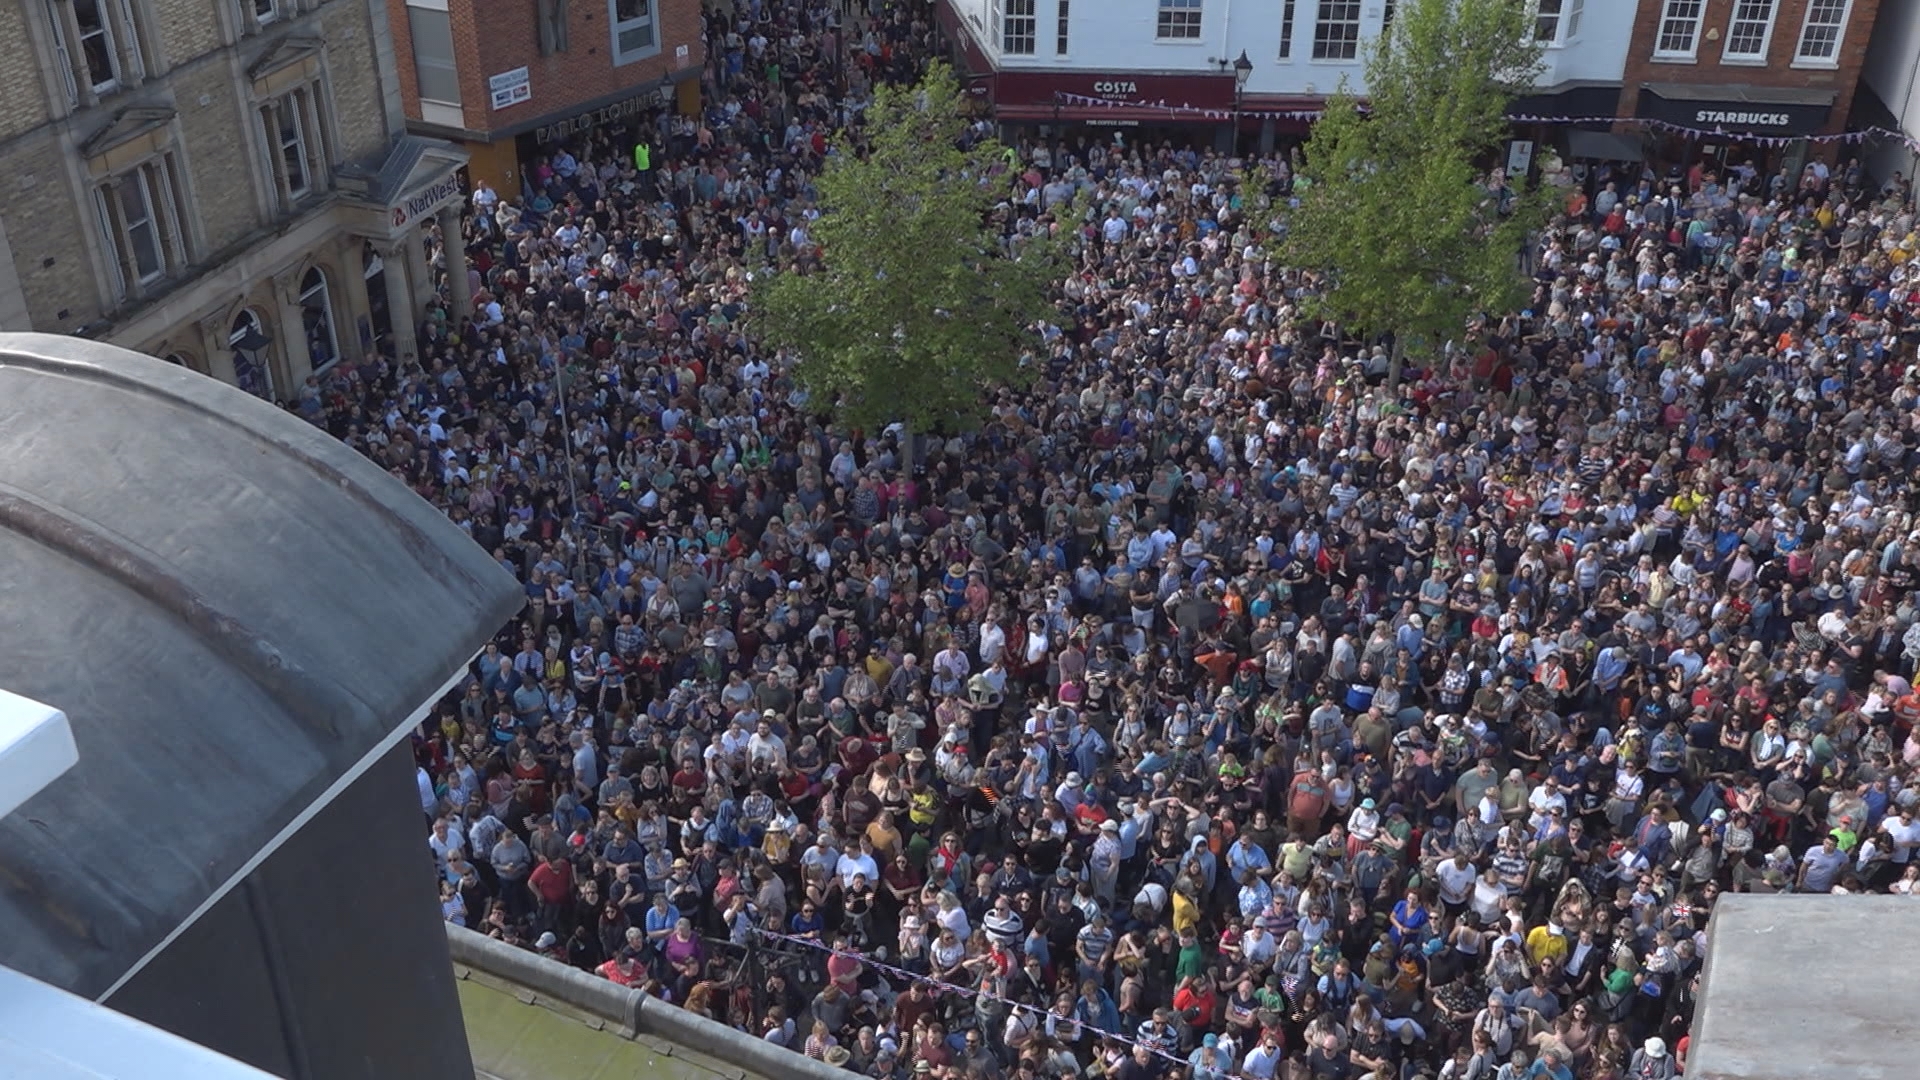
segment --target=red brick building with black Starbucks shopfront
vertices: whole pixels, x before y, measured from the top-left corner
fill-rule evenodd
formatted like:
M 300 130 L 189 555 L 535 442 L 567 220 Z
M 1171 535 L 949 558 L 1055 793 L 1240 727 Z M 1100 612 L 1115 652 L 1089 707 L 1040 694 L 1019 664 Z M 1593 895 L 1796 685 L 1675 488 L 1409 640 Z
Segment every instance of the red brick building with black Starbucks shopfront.
M 1720 133 L 1722 154 L 1845 131 L 1880 4 L 1640 0 L 1619 115 Z

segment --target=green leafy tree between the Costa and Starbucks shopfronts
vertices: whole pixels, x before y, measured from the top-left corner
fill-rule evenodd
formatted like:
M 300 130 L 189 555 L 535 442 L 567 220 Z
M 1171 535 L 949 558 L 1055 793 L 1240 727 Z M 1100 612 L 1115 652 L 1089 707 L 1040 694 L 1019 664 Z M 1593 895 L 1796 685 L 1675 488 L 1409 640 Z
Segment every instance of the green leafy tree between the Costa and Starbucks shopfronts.
M 1526 0 L 1407 0 L 1367 50 L 1367 100 L 1348 86 L 1306 142 L 1279 258 L 1321 275 L 1306 311 L 1392 334 L 1388 382 L 1476 313 L 1519 307 L 1519 252 L 1546 194 L 1490 184 L 1507 104 L 1540 73 Z

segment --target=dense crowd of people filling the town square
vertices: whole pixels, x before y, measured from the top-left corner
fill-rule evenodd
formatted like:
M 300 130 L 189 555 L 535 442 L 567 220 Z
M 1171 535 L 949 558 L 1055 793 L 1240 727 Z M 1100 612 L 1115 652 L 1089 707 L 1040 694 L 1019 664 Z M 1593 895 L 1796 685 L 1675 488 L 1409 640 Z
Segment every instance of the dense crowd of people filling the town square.
M 1914 890 L 1908 190 L 1599 167 L 1396 390 L 1284 156 L 1029 142 L 1044 375 L 908 454 L 741 317 L 927 10 L 707 40 L 305 402 L 526 582 L 417 740 L 449 920 L 876 1078 L 1667 1080 L 1724 890 Z

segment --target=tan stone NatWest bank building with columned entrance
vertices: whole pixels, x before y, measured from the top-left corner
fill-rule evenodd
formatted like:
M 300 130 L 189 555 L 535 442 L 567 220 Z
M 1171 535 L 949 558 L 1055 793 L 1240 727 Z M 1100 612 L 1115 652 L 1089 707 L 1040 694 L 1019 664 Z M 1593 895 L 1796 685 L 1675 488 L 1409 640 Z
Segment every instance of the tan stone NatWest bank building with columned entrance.
M 0 329 L 288 400 L 432 290 L 463 158 L 405 135 L 382 0 L 21 0 L 0 77 Z

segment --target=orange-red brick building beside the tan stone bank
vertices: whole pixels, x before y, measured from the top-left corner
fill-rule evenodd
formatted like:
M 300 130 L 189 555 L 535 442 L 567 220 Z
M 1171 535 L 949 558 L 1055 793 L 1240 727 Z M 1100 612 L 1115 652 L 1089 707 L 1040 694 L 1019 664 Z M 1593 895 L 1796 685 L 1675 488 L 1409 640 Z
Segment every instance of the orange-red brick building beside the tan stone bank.
M 701 0 L 388 0 L 411 131 L 459 144 L 474 181 L 589 127 L 699 110 Z

